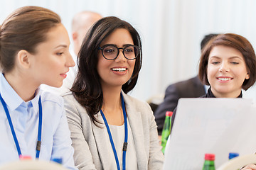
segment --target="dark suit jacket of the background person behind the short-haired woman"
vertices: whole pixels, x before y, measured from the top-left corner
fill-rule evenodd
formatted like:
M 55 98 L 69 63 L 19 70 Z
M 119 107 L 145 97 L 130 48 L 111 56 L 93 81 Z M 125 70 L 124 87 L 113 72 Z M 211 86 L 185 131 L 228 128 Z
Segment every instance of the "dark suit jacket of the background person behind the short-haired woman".
M 174 111 L 179 98 L 197 98 L 204 94 L 206 94 L 206 91 L 197 76 L 169 85 L 166 89 L 163 103 L 156 108 L 154 113 L 159 135 L 161 135 L 164 126 L 166 111 Z

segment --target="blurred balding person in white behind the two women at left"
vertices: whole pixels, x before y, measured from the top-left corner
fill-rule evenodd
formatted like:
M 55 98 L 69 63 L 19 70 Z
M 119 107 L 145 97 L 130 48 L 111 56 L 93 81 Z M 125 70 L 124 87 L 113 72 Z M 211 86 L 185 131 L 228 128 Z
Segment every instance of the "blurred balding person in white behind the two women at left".
M 73 39 L 73 50 L 70 50 L 70 54 L 75 61 L 75 67 L 70 67 L 67 77 L 63 80 L 63 86 L 61 86 L 60 88 L 54 88 L 43 84 L 41 85 L 41 89 L 59 95 L 65 94 L 70 91 L 75 80 L 75 76 L 78 72 L 77 57 L 80 47 L 82 45 L 82 40 L 85 38 L 85 35 L 90 27 L 101 18 L 102 16 L 100 15 L 100 13 L 92 11 L 82 11 L 75 14 L 72 20 L 71 33 Z

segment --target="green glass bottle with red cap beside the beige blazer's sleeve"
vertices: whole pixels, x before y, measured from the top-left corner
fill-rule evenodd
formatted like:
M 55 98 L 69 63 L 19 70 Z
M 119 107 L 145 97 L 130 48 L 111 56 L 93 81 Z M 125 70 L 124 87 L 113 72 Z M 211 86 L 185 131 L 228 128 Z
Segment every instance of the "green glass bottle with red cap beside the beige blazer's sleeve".
M 166 111 L 166 118 L 164 120 L 164 128 L 161 134 L 161 146 L 162 146 L 162 152 L 164 154 L 164 150 L 166 147 L 166 142 L 167 139 L 170 135 L 171 132 L 171 115 L 173 114 L 173 112 L 171 111 Z

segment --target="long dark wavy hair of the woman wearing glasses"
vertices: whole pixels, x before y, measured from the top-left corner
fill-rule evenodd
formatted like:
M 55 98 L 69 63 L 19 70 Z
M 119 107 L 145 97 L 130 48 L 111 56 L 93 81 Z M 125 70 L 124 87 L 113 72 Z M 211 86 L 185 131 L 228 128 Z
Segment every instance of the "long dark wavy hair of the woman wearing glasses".
M 101 42 L 117 28 L 128 30 L 134 45 L 142 49 L 141 38 L 137 30 L 126 21 L 110 16 L 100 19 L 90 28 L 82 42 L 80 52 L 78 52 L 78 74 L 75 77 L 71 91 L 76 100 L 85 107 L 95 125 L 96 122 L 99 123 L 95 115 L 100 111 L 103 103 L 100 76 L 97 72 L 98 52 Z M 136 58 L 132 77 L 122 85 L 122 90 L 125 94 L 134 89 L 141 68 L 142 50 L 140 50 L 139 56 Z

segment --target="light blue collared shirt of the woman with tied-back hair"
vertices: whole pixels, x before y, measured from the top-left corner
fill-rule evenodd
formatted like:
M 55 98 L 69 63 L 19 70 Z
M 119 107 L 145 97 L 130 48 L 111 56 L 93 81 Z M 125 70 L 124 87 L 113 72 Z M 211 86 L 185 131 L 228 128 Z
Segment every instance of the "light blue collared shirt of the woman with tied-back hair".
M 23 156 L 36 158 L 38 139 L 38 100 L 41 96 L 43 123 L 42 144 L 39 159 L 49 161 L 62 158 L 63 166 L 76 169 L 74 166 L 70 130 L 65 116 L 63 98 L 38 89 L 36 96 L 28 102 L 16 94 L 3 74 L 0 73 L 0 93 L 9 110 L 14 125 L 18 144 Z M 11 134 L 6 113 L 0 102 L 0 164 L 18 160 L 18 152 Z

